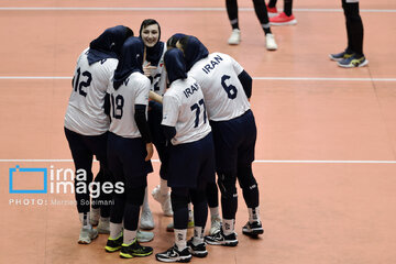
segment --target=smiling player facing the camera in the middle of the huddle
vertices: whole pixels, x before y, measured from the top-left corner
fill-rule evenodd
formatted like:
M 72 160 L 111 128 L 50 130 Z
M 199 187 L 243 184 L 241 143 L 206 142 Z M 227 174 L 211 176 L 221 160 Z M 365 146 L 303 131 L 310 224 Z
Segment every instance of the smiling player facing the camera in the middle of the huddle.
M 151 91 L 163 96 L 166 89 L 166 73 L 164 68 L 164 54 L 166 44 L 161 40 L 161 26 L 157 21 L 146 19 L 140 28 L 140 37 L 145 46 L 145 59 L 143 62 L 144 75 L 151 80 Z M 172 217 L 169 187 L 166 180 L 167 147 L 164 133 L 161 128 L 162 105 L 151 100 L 148 102 L 148 125 L 153 143 L 161 161 L 160 185 L 152 191 L 153 198 L 161 204 L 165 216 Z M 148 206 L 147 190 L 145 191 L 140 222 L 141 229 L 153 229 L 154 220 Z

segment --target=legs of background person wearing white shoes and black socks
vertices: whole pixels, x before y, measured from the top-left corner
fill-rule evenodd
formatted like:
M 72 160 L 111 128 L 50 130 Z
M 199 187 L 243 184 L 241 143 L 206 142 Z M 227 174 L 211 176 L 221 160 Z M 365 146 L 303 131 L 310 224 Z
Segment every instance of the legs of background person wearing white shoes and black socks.
M 277 45 L 275 37 L 271 32 L 271 25 L 268 20 L 267 9 L 265 7 L 264 0 L 253 0 L 254 11 L 257 15 L 257 19 L 263 28 L 265 34 L 265 44 L 268 51 L 276 51 Z M 241 42 L 241 31 L 238 20 L 238 2 L 237 0 L 226 0 L 227 13 L 232 26 L 232 33 L 228 43 L 230 45 L 238 45 Z

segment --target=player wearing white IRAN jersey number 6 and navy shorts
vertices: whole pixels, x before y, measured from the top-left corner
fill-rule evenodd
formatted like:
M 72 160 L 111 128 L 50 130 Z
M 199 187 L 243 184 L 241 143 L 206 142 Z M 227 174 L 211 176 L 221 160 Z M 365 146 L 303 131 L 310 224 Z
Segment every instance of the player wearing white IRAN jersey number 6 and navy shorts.
M 186 59 L 188 75 L 201 86 L 216 148 L 216 170 L 221 191 L 222 228 L 208 235 L 210 244 L 234 246 L 238 209 L 237 178 L 249 208 L 249 221 L 242 231 L 257 235 L 264 232 L 258 215 L 258 188 L 252 173 L 256 125 L 249 98 L 252 78 L 232 57 L 222 53 L 209 54 L 194 36 L 182 38 L 177 46 Z

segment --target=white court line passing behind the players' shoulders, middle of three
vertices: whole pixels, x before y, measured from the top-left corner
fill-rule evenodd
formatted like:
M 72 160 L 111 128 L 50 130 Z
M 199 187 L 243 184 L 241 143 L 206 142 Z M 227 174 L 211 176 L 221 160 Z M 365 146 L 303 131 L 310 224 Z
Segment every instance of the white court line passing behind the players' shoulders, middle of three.
M 72 79 L 69 76 L 0 76 L 0 80 Z M 396 81 L 396 78 L 338 78 L 338 77 L 253 77 L 255 80 L 317 80 L 317 81 Z

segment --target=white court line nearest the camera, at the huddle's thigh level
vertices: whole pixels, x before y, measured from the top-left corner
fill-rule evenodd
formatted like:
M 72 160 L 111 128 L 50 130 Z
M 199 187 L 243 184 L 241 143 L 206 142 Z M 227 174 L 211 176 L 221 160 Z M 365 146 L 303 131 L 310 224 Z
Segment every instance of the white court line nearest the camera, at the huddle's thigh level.
M 66 163 L 73 160 L 0 160 L 0 163 L 31 162 L 31 163 Z M 95 161 L 97 162 L 97 161 Z M 160 160 L 152 160 L 158 163 Z M 296 163 L 296 164 L 396 164 L 396 161 L 289 161 L 289 160 L 256 160 L 254 163 Z

